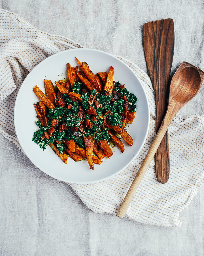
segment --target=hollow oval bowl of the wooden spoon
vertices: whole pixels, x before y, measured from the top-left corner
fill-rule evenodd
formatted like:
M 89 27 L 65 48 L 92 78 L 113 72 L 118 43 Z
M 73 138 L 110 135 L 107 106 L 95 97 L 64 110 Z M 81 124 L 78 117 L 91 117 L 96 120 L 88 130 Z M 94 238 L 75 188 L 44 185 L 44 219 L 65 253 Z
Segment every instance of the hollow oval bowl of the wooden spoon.
M 196 68 L 184 67 L 171 80 L 170 93 L 179 103 L 189 102 L 199 92 L 201 76 Z

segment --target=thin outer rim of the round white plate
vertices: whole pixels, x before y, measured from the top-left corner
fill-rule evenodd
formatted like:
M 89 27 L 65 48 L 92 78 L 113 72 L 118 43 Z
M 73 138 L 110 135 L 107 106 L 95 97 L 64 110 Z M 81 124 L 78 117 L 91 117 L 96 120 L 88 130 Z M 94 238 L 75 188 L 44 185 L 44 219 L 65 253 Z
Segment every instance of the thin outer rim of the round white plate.
M 46 171 L 44 170 L 41 170 L 41 168 L 39 168 L 38 164 L 35 164 L 33 163 L 33 161 L 27 156 L 26 154 L 26 150 L 24 150 L 24 147 L 22 146 L 22 143 L 21 143 L 21 140 L 20 140 L 20 137 L 18 135 L 18 132 L 17 132 L 17 129 L 16 129 L 16 108 L 17 108 L 17 102 L 18 102 L 18 97 L 20 95 L 20 91 L 22 90 L 22 85 L 24 84 L 24 82 L 26 82 L 27 78 L 30 76 L 30 74 L 35 70 L 35 68 L 39 65 L 41 65 L 41 63 L 43 63 L 44 61 L 47 61 L 47 59 L 49 58 L 52 58 L 53 56 L 55 55 L 60 55 L 60 54 L 63 54 L 65 51 L 86 51 L 86 50 L 91 50 L 91 51 L 96 51 L 96 52 L 102 52 L 102 53 L 105 53 L 107 55 L 111 55 L 112 57 L 114 57 L 115 59 L 119 60 L 119 62 L 123 63 L 124 65 L 126 65 L 128 67 L 128 69 L 131 70 L 131 72 L 134 74 L 134 76 L 136 77 L 136 79 L 138 80 L 138 82 L 140 83 L 141 85 L 141 88 L 144 92 L 144 95 L 145 95 L 145 98 L 146 98 L 146 101 L 147 101 L 147 108 L 148 108 L 148 125 L 147 125 L 147 129 L 146 129 L 146 133 L 145 133 L 145 137 L 143 139 L 143 142 L 139 148 L 139 150 L 137 151 L 137 153 L 135 154 L 135 156 L 122 168 L 122 169 L 119 169 L 116 173 L 114 174 L 111 174 L 109 176 L 107 176 L 106 178 L 102 178 L 102 179 L 97 179 L 95 181 L 90 181 L 90 182 L 76 182 L 76 181 L 67 181 L 67 180 L 63 180 L 63 179 L 59 179 L 57 178 L 56 176 L 54 175 L 50 175 L 48 174 Z M 118 56 L 118 55 L 117 55 Z M 27 158 L 29 158 L 29 160 L 39 169 L 41 170 L 42 172 L 44 172 L 45 174 L 47 174 L 48 176 L 54 178 L 54 179 L 57 179 L 59 181 L 64 181 L 66 183 L 73 183 L 73 184 L 94 184 L 94 183 L 97 183 L 97 182 L 100 182 L 100 181 L 104 181 L 104 180 L 107 180 L 115 175 L 117 175 L 119 172 L 121 172 L 122 170 L 124 170 L 125 168 L 127 168 L 127 166 L 137 157 L 137 155 L 139 154 L 139 152 L 141 151 L 141 149 L 143 148 L 144 144 L 145 144 L 145 141 L 146 141 L 146 137 L 148 135 L 148 131 L 149 131 L 149 126 L 150 126 L 150 107 L 149 107 L 149 101 L 148 101 L 148 97 L 146 95 L 146 92 L 145 92 L 145 89 L 143 88 L 143 85 L 141 83 L 141 81 L 139 80 L 139 77 L 137 77 L 137 75 L 135 74 L 135 72 L 131 69 L 131 67 L 129 67 L 124 61 L 122 61 L 121 59 L 119 59 L 118 57 L 116 57 L 116 55 L 114 54 L 111 54 L 111 53 L 107 53 L 105 51 L 101 51 L 101 50 L 97 50 L 97 49 L 92 49 L 92 48 L 72 48 L 72 49 L 67 49 L 67 50 L 64 50 L 64 51 L 60 51 L 60 52 L 57 52 L 57 53 L 54 53 L 52 55 L 50 55 L 49 57 L 45 58 L 44 60 L 42 60 L 40 63 L 38 63 L 29 73 L 28 75 L 25 77 L 24 81 L 22 82 L 19 90 L 18 90 L 18 94 L 16 96 L 16 100 L 15 100 L 15 105 L 14 105 L 14 127 L 15 127 L 15 131 L 16 131 L 16 137 L 18 139 L 18 142 L 21 146 L 21 148 L 23 149 L 24 151 L 24 154 L 27 156 Z

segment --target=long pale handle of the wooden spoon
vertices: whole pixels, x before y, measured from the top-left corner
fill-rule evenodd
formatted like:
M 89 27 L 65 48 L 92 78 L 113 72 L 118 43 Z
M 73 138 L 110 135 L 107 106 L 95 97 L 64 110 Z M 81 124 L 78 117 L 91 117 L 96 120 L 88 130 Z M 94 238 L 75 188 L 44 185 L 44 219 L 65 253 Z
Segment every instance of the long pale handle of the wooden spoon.
M 139 184 L 141 182 L 141 180 L 143 179 L 145 172 L 148 168 L 148 166 L 150 165 L 150 162 L 152 161 L 152 158 L 154 157 L 167 129 L 169 127 L 169 122 L 165 122 L 165 118 L 162 122 L 162 125 L 154 139 L 154 141 L 152 142 L 152 145 L 150 146 L 150 149 L 148 150 L 145 159 L 143 160 L 143 163 L 141 164 L 139 171 L 137 172 L 135 179 L 133 180 L 133 183 L 131 184 L 128 193 L 126 194 L 122 204 L 120 205 L 120 208 L 118 209 L 117 212 L 117 216 L 120 218 L 123 218 L 133 196 L 135 195 L 135 192 L 137 190 L 137 188 L 139 187 Z

